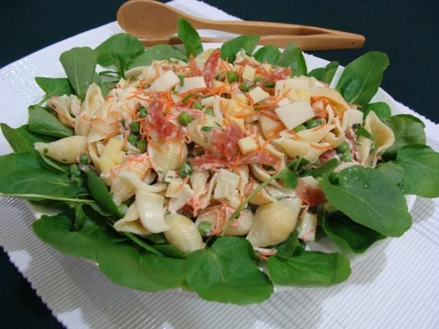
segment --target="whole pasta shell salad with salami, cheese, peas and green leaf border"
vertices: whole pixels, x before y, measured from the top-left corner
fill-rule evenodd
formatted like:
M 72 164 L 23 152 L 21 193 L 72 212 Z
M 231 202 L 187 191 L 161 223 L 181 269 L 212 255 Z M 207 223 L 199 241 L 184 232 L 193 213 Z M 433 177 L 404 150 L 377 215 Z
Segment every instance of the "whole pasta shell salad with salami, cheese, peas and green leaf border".
M 1 124 L 1 195 L 60 210 L 33 225 L 49 245 L 126 287 L 250 304 L 343 282 L 346 253 L 410 228 L 404 195 L 439 196 L 423 122 L 370 103 L 384 53 L 335 84 L 337 62 L 308 72 L 295 45 L 204 50 L 178 27 L 184 49 L 117 34 L 65 51 L 28 123 Z M 338 252 L 307 247 L 319 239 Z

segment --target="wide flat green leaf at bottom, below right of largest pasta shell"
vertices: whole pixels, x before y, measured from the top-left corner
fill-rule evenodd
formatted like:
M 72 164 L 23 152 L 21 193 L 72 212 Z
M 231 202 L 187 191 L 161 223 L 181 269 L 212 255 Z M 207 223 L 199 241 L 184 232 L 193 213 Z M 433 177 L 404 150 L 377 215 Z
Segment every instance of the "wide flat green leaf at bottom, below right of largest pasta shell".
M 307 251 L 289 258 L 271 256 L 268 269 L 274 284 L 287 286 L 336 284 L 351 274 L 349 260 L 342 254 Z

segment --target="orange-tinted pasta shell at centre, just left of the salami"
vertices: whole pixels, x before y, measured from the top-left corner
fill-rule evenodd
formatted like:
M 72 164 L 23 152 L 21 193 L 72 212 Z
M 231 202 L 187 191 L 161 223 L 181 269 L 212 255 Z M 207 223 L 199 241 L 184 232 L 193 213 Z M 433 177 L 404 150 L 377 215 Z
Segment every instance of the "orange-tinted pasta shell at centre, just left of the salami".
M 169 170 L 176 170 L 185 162 L 187 146 L 183 142 L 154 142 L 148 144 L 147 153 L 158 180 L 162 181 Z

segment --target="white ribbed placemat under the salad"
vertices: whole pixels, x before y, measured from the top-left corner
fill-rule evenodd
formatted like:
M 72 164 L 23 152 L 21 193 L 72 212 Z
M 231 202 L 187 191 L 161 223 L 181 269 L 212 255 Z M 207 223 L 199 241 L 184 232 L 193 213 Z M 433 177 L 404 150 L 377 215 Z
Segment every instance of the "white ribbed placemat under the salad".
M 195 0 L 171 5 L 195 16 L 236 19 Z M 13 127 L 25 123 L 27 106 L 42 96 L 34 76 L 62 72 L 62 51 L 96 47 L 120 31 L 117 23 L 110 23 L 3 67 L 0 121 Z M 427 143 L 439 151 L 439 126 L 401 103 L 397 106 L 423 119 Z M 0 154 L 10 151 L 0 136 Z M 434 328 L 439 323 L 438 208 L 438 199 L 416 199 L 412 229 L 355 257 L 348 282 L 278 291 L 263 304 L 245 307 L 205 302 L 189 293 L 145 293 L 112 284 L 95 265 L 39 241 L 31 228 L 34 216 L 21 200 L 0 199 L 0 245 L 68 328 Z

